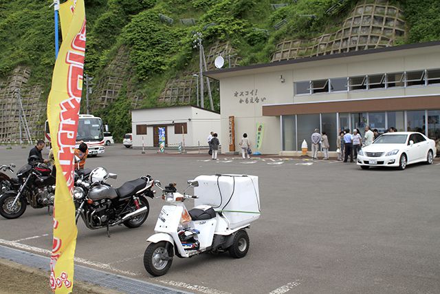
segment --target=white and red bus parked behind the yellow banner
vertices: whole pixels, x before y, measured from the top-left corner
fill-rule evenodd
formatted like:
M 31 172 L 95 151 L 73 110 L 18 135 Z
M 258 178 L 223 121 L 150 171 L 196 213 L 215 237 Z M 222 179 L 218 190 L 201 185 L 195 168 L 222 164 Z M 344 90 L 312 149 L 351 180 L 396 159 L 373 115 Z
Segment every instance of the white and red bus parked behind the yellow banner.
M 49 123 L 47 120 L 45 123 L 44 133 L 46 143 L 50 143 Z M 80 114 L 76 140 L 83 141 L 87 144 L 87 147 L 89 148 L 89 156 L 103 154 L 105 151 L 104 125 L 102 125 L 101 118 L 91 114 Z

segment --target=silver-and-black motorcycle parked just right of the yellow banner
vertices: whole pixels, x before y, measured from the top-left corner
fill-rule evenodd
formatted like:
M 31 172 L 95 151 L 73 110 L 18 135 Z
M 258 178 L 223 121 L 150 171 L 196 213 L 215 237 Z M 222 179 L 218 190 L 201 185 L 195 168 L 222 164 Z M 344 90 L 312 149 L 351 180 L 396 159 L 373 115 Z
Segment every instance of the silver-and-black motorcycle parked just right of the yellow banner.
M 154 198 L 154 191 L 151 189 L 154 182 L 151 176 L 125 182 L 115 189 L 105 180 L 116 178 L 117 175 L 107 174 L 102 179 L 95 180 L 94 171 L 91 172 L 89 180 L 76 181 L 76 222 L 81 216 L 87 228 L 107 228 L 109 236 L 109 227 L 120 224 L 129 228 L 140 227 L 150 211 L 146 197 Z

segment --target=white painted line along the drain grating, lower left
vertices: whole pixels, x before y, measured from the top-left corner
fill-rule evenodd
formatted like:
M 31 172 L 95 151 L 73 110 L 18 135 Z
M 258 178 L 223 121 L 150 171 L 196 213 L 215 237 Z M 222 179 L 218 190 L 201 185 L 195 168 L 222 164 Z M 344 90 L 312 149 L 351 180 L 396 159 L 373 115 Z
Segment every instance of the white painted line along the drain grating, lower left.
M 13 248 L 17 248 L 17 249 L 22 249 L 25 251 L 30 251 L 33 253 L 39 253 L 41 255 L 45 255 L 45 256 L 50 256 L 50 254 L 52 253 L 52 251 L 47 250 L 47 249 L 42 249 L 39 247 L 34 247 L 34 246 L 30 246 L 30 245 L 26 245 L 26 244 L 21 244 L 19 242 L 15 242 L 15 241 L 8 241 L 8 240 L 3 240 L 0 239 L 0 244 L 5 245 L 5 246 L 10 246 Z M 143 256 L 143 255 L 140 255 Z M 139 258 L 139 257 L 136 257 Z M 124 261 L 129 261 L 133 258 L 125 258 L 124 260 L 118 260 L 116 262 L 112 262 L 112 263 L 117 263 L 117 262 L 124 262 Z M 139 272 L 131 272 L 131 271 L 124 271 L 121 269 L 116 269 L 115 267 L 111 266 L 110 264 L 104 264 L 102 262 L 93 262 L 91 260 L 85 260 L 84 258 L 74 258 L 74 261 L 79 263 L 79 264 L 85 264 L 87 266 L 94 266 L 98 269 L 101 270 L 105 270 L 105 271 L 113 271 L 115 273 L 120 273 L 122 275 L 129 275 L 132 277 L 139 277 L 144 275 L 144 273 L 139 273 Z M 184 282 L 175 282 L 175 281 L 170 281 L 170 280 L 159 280 L 159 279 L 148 279 L 148 280 L 153 280 L 156 282 L 160 282 L 163 284 L 167 284 L 170 286 L 177 286 L 177 287 L 181 287 L 181 288 L 186 288 L 188 290 L 192 290 L 192 291 L 199 291 L 201 293 L 212 293 L 212 294 L 230 294 L 228 292 L 223 292 L 223 291 L 219 291 L 217 289 L 213 289 L 213 288 L 208 288 L 206 286 L 199 286 L 199 285 L 195 285 L 195 284 L 187 284 Z

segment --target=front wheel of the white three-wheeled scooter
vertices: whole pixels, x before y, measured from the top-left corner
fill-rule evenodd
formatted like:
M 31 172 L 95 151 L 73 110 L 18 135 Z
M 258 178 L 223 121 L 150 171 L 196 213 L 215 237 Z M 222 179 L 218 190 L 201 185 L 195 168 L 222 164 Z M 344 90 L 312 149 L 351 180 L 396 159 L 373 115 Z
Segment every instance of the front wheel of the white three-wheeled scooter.
M 151 243 L 146 247 L 144 253 L 144 267 L 150 275 L 158 277 L 159 275 L 165 275 L 170 269 L 173 263 L 173 245 L 168 245 L 169 252 L 166 249 L 168 242 L 161 241 L 157 243 Z

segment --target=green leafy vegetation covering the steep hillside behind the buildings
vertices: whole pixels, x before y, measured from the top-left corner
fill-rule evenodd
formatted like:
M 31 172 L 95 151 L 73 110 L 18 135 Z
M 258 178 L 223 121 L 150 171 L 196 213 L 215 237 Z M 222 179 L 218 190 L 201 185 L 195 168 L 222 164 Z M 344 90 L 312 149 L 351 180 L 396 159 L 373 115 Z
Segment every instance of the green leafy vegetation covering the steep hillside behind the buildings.
M 126 98 L 128 87 L 142 96 L 138 106 L 151 107 L 158 104 L 167 81 L 197 72 L 198 50 L 192 48 L 194 31 L 203 33 L 205 49 L 217 41 L 229 41 L 241 57 L 239 65 L 265 63 L 271 61 L 276 44 L 283 39 L 311 39 L 336 32 L 359 2 L 364 0 L 85 0 L 85 72 L 95 76 L 94 82 L 100 80 L 121 48 L 128 50 L 131 63 L 118 96 L 95 113 L 107 120 L 116 136 L 128 131 L 128 113 L 133 107 Z M 50 3 L 0 0 L 0 81 L 19 65 L 29 67 L 29 83 L 43 87 L 43 99 L 49 93 L 54 65 Z M 276 3 L 287 5 L 272 9 L 271 4 Z M 398 6 L 406 21 L 406 34 L 395 44 L 440 39 L 440 1 L 388 3 Z M 159 14 L 173 19 L 173 23 L 161 21 Z M 180 19 L 195 19 L 196 23 L 184 25 Z M 274 28 L 281 21 L 283 25 Z M 213 95 L 218 101 L 216 87 Z M 219 110 L 218 103 L 214 105 Z

